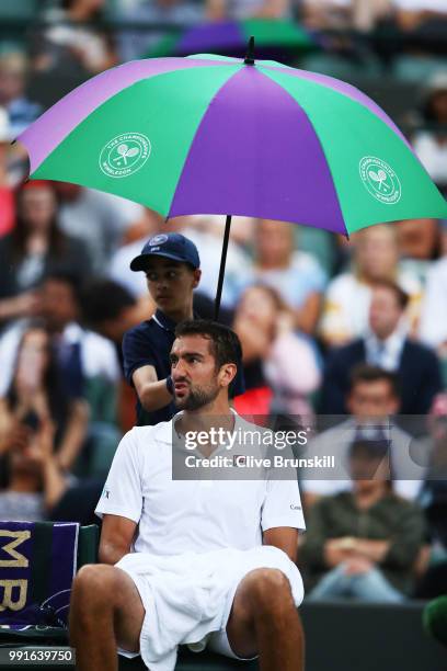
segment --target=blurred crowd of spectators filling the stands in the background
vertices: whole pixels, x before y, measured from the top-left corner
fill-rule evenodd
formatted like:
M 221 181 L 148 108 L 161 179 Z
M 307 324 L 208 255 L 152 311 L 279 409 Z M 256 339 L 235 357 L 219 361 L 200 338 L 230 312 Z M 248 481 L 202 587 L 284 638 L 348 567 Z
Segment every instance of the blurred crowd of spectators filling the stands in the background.
M 11 140 L 88 77 L 151 56 L 198 23 L 252 18 L 299 25 L 308 47 L 282 43 L 280 59 L 369 93 L 447 194 L 445 0 L 1 2 L 0 519 L 91 519 L 135 423 L 123 334 L 154 309 L 129 262 L 154 232 L 183 232 L 202 259 L 196 309 L 210 317 L 225 224 L 164 223 L 116 196 L 26 182 L 26 156 Z M 238 410 L 313 423 L 343 414 L 355 428 L 345 441 L 353 481 L 302 484 L 311 598 L 445 593 L 447 221 L 378 225 L 347 241 L 236 217 L 221 318 L 243 344 Z M 417 476 L 400 474 L 391 455 L 391 482 L 364 477 L 365 464 L 387 456 L 380 422 L 396 413 L 405 416 L 397 430 L 405 448 L 417 442 Z M 363 417 L 379 418 L 379 429 Z

